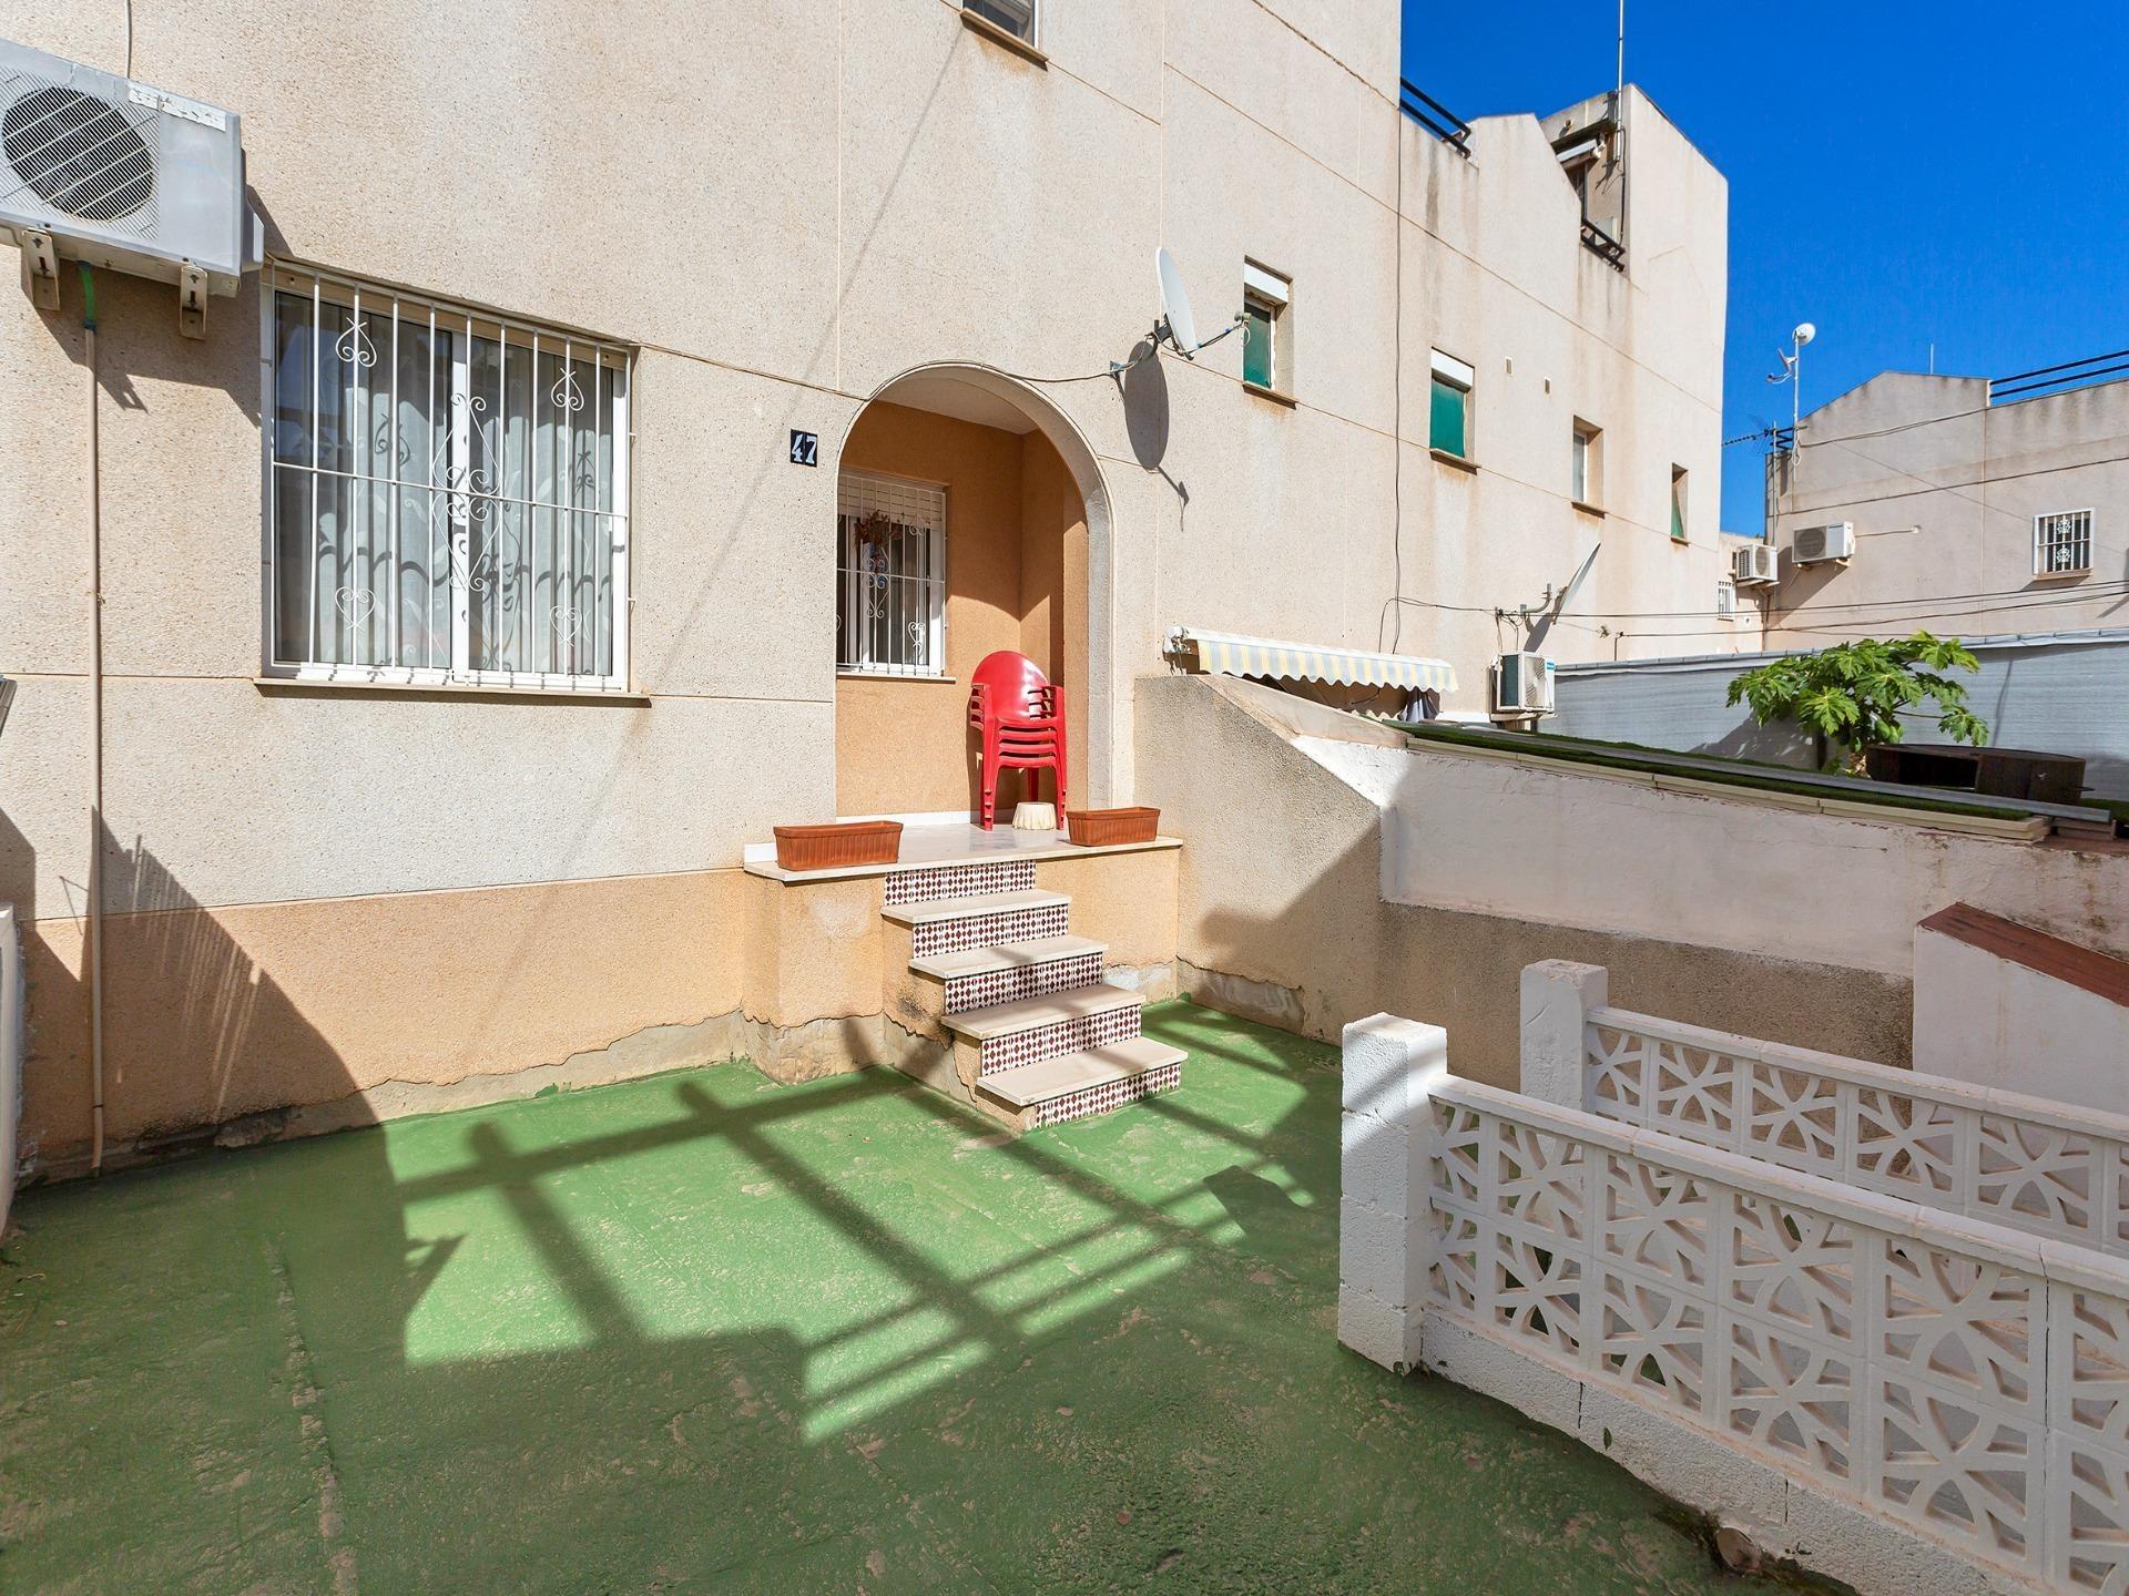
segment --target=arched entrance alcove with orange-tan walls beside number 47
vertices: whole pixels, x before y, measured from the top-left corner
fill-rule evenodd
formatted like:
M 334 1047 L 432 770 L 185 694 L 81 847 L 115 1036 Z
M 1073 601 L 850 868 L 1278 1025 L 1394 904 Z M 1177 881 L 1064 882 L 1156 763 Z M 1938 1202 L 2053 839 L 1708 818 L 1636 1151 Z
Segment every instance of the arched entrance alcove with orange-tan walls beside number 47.
M 996 649 L 1062 685 L 1071 802 L 1105 800 L 1107 572 L 1101 468 L 1043 394 L 960 364 L 881 385 L 837 453 L 837 813 L 973 809 L 969 675 Z

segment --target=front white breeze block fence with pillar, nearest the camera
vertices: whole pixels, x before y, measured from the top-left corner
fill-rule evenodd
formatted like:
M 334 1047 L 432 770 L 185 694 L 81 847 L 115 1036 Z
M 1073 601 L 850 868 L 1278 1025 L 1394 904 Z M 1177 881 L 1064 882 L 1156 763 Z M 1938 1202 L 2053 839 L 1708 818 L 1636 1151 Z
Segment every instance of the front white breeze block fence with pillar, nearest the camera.
M 1590 975 L 1575 1011 L 1603 1009 Z M 1535 998 L 1526 1038 L 1569 1007 Z M 1526 1081 L 1575 1053 L 1529 1049 Z M 1439 1028 L 1390 1015 L 1346 1030 L 1343 1147 L 1365 1356 L 1867 1592 L 2129 1592 L 2123 1262 L 1458 1081 Z

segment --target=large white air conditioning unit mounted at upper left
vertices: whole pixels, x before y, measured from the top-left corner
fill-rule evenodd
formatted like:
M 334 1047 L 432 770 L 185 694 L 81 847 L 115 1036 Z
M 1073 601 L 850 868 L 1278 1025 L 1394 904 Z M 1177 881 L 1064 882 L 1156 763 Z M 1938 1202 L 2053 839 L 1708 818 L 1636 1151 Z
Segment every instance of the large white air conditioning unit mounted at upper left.
M 221 106 L 0 40 L 0 230 L 38 309 L 83 260 L 177 283 L 179 328 L 204 336 L 207 296 L 260 262 L 238 132 Z

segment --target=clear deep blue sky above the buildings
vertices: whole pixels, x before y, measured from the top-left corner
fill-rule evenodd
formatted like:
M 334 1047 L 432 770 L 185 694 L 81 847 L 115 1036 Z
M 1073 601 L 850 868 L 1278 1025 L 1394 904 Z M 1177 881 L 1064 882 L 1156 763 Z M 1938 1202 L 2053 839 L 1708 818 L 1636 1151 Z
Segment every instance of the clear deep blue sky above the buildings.
M 1463 117 L 1548 113 L 1614 77 L 1616 0 L 1405 0 L 1405 77 Z M 1886 368 L 2006 377 L 2129 349 L 2129 6 L 1629 0 L 1627 79 L 1731 196 L 1722 432 Z M 1761 530 L 1759 445 L 1722 526 Z

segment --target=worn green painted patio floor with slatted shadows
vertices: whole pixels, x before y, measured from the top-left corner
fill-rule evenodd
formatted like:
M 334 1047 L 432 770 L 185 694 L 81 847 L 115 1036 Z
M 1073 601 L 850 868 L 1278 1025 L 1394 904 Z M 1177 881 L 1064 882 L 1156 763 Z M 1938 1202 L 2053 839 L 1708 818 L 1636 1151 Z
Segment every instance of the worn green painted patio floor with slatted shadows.
M 745 1064 L 32 1192 L 6 1592 L 1695 1592 L 1624 1473 L 1337 1345 L 1337 1055 L 1022 1141 Z

